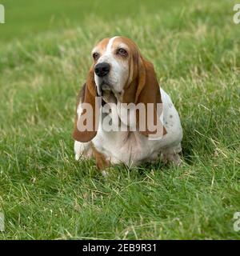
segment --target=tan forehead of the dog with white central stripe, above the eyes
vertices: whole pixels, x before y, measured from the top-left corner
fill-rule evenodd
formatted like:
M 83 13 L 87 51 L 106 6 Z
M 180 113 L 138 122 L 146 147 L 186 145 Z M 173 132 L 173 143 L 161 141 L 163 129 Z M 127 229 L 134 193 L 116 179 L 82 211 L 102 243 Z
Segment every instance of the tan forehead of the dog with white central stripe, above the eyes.
M 134 50 L 136 48 L 134 42 L 128 38 L 123 37 L 114 37 L 114 38 L 105 38 L 101 42 L 98 42 L 92 53 L 99 52 L 101 54 L 111 53 L 117 48 L 123 48 L 125 50 Z

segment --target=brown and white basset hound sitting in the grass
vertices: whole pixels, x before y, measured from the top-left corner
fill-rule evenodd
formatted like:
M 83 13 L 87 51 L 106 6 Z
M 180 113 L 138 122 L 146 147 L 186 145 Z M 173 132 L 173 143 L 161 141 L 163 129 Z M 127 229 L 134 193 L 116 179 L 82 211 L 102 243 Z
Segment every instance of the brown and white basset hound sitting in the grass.
M 94 46 L 92 57 L 86 83 L 78 94 L 73 133 L 76 160 L 94 157 L 103 171 L 110 164 L 139 165 L 160 155 L 164 162 L 179 165 L 180 118 L 170 96 L 159 87 L 152 63 L 142 57 L 132 40 L 121 36 L 103 39 Z M 140 110 L 130 106 L 138 103 L 143 108 L 152 106 L 150 114 L 145 110 L 140 118 Z M 103 111 L 110 104 L 109 112 Z M 88 114 L 87 106 L 92 107 Z M 103 125 L 104 118 L 111 129 Z M 87 122 L 91 129 L 83 128 Z M 161 136 L 154 138 L 157 130 Z

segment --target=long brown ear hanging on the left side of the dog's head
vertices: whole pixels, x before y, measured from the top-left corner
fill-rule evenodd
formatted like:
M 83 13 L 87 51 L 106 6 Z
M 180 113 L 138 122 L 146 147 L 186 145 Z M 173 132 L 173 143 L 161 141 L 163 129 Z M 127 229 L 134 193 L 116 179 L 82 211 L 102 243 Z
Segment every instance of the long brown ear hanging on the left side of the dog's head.
M 73 138 L 78 142 L 90 142 L 98 132 L 100 107 L 96 106 L 98 100 L 93 67 L 90 68 L 86 84 L 82 88 L 82 95 L 78 98 Z

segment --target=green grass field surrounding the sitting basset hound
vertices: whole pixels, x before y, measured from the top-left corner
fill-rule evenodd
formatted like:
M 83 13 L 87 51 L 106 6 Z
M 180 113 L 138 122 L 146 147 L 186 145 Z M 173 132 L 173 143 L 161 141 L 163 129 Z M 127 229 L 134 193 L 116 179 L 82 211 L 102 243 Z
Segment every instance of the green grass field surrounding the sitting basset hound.
M 1 1 L 2 239 L 230 239 L 240 211 L 240 24 L 234 1 Z M 124 35 L 181 115 L 183 166 L 103 178 L 75 162 L 75 97 L 94 43 Z

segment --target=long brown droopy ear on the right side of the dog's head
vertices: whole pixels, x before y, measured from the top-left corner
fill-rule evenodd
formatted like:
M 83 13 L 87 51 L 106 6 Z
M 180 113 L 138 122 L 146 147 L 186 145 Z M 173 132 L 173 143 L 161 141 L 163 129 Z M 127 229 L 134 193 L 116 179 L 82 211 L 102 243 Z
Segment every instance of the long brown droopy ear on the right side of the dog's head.
M 123 101 L 130 102 L 135 98 L 135 105 L 143 104 L 146 110 L 144 116 L 140 114 L 139 110 L 136 111 L 139 132 L 150 139 L 162 138 L 167 132 L 159 118 L 162 114 L 162 98 L 154 66 L 141 55 L 138 57 L 138 61 L 135 59 L 135 62 L 137 63 L 134 63 L 134 72 L 137 74 L 124 92 Z

